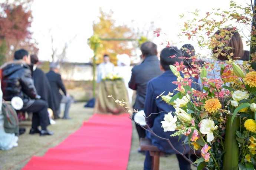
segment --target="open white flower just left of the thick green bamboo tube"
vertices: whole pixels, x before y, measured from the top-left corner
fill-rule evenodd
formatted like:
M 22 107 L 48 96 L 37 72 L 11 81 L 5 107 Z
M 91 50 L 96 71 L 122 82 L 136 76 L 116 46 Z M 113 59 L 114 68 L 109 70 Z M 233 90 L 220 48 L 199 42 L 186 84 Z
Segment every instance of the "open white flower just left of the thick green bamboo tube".
M 218 128 L 218 126 L 214 125 L 214 121 L 211 119 L 201 120 L 200 132 L 202 134 L 207 134 L 207 142 L 211 142 L 214 139 L 213 131 Z

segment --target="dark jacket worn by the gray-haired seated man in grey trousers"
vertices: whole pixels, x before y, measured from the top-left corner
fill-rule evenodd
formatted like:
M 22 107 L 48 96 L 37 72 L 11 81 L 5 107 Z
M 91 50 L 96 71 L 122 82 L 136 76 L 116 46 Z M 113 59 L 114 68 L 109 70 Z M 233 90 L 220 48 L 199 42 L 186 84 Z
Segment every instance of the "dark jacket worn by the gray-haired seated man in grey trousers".
M 55 109 L 58 110 L 60 108 L 60 102 L 62 99 L 62 94 L 60 94 L 60 89 L 66 95 L 66 88 L 62 82 L 61 76 L 54 71 L 49 71 L 46 73 L 46 77 L 49 80 L 50 86 L 52 87 L 53 101 L 55 103 Z

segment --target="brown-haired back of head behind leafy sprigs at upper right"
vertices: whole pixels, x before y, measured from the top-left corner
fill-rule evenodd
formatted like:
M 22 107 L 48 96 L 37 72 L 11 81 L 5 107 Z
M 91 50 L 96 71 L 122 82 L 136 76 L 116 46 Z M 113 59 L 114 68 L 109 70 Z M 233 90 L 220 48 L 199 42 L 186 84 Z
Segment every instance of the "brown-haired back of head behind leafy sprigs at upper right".
M 216 41 L 216 43 L 213 42 L 213 44 L 216 44 L 213 47 L 213 54 L 217 55 L 216 57 L 219 60 L 228 60 L 227 56 L 230 56 L 231 53 L 233 53 L 233 56 L 230 56 L 232 59 L 242 59 L 244 53 L 243 42 L 236 28 L 218 30 L 212 41 Z

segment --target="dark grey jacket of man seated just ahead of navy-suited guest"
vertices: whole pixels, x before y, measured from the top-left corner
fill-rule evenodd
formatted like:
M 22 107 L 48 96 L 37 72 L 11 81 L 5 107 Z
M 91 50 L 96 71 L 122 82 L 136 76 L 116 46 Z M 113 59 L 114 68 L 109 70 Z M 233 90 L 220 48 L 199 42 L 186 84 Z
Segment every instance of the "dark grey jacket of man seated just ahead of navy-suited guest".
M 134 109 L 144 110 L 147 83 L 151 79 L 160 76 L 162 73 L 157 56 L 148 56 L 140 65 L 132 68 L 129 88 L 137 90 L 137 96 L 133 106 Z

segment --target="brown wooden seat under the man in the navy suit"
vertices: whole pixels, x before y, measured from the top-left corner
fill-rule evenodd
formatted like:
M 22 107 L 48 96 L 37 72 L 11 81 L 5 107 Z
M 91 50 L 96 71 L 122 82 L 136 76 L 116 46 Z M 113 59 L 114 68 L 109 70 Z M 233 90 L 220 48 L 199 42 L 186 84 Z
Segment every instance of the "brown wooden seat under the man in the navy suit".
M 149 151 L 152 159 L 152 169 L 159 170 L 160 156 L 165 156 L 165 153 L 160 151 L 157 146 L 152 145 L 150 139 L 141 138 L 140 147 L 143 151 Z

